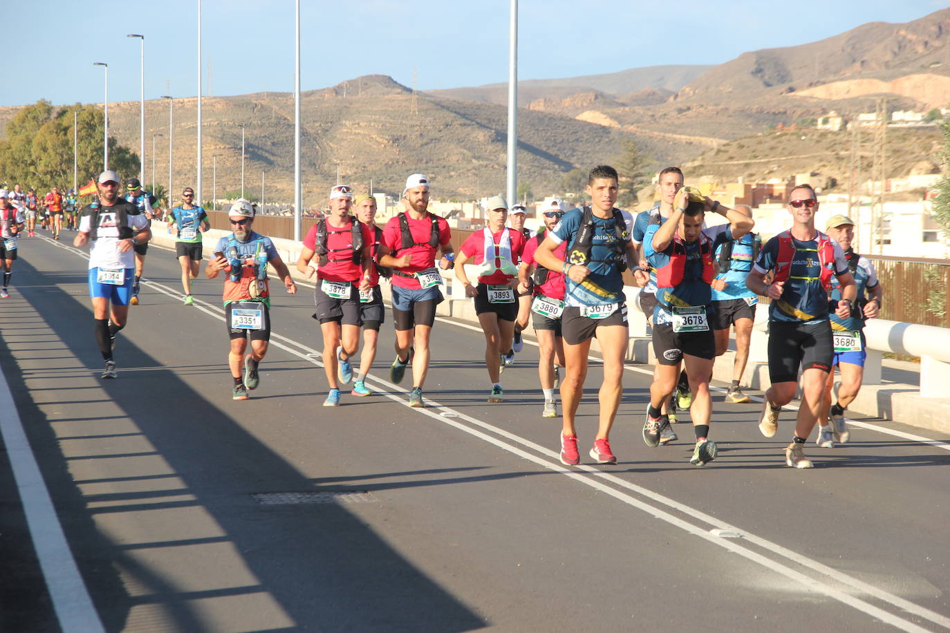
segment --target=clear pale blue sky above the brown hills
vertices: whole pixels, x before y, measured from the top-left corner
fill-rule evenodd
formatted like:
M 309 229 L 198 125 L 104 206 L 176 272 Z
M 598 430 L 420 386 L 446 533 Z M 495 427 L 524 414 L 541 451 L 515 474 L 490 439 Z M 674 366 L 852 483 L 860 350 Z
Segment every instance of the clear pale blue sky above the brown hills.
M 110 102 L 137 101 L 140 45 L 126 33 L 146 37 L 146 99 L 197 94 L 198 0 L 4 4 L 0 105 L 102 102 L 103 69 L 93 62 L 109 65 Z M 294 6 L 294 0 L 203 0 L 204 94 L 292 91 Z M 721 64 L 747 50 L 805 44 L 866 22 L 908 22 L 943 6 L 935 0 L 522 0 L 519 78 Z M 420 89 L 504 82 L 507 34 L 505 0 L 301 0 L 301 85 L 322 88 L 368 74 L 411 85 L 413 68 Z

